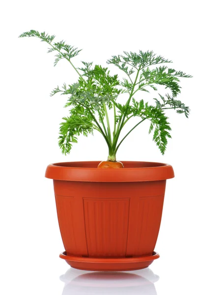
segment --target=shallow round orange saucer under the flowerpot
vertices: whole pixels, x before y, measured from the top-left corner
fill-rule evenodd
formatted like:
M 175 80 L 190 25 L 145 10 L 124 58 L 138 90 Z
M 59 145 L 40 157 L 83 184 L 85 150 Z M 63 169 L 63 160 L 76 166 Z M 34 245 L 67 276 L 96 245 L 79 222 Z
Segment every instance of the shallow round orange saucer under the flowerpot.
M 151 256 L 130 257 L 130 258 L 89 258 L 68 256 L 66 251 L 59 255 L 71 267 L 82 270 L 95 271 L 128 271 L 142 269 L 150 266 L 160 255 L 153 252 Z

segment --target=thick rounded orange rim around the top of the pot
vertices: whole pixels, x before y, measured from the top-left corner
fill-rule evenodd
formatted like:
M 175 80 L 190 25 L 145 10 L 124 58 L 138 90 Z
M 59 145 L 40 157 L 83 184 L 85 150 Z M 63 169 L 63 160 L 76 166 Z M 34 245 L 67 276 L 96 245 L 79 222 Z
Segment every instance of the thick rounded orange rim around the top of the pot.
M 122 169 L 99 169 L 101 161 L 59 162 L 48 165 L 45 177 L 88 182 L 138 182 L 174 177 L 171 165 L 159 162 L 121 161 Z M 74 165 L 74 166 L 73 166 Z

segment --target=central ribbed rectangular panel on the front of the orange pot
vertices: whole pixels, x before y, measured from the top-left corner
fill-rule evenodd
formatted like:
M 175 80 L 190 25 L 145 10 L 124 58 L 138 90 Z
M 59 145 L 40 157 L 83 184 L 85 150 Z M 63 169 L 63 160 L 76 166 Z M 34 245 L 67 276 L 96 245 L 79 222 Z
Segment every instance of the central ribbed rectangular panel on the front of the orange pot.
M 129 203 L 129 198 L 83 198 L 89 257 L 125 257 Z

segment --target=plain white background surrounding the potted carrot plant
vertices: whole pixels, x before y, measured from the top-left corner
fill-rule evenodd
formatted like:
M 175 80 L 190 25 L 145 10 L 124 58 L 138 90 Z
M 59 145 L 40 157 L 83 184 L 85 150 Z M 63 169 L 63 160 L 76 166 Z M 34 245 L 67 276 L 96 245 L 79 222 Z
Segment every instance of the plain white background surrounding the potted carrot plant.
M 218 294 L 215 4 L 212 0 L 8 0 L 1 4 L 2 294 Z M 66 98 L 49 94 L 57 85 L 75 82 L 77 75 L 65 61 L 54 68 L 54 57 L 46 54 L 45 43 L 18 38 L 30 29 L 45 30 L 55 34 L 56 40 L 82 48 L 74 59 L 76 66 L 80 60 L 106 65 L 111 55 L 141 49 L 172 59 L 174 68 L 193 75 L 182 80 L 179 95 L 191 108 L 190 118 L 167 112 L 172 139 L 165 155 L 152 142 L 146 124 L 128 137 L 117 154 L 118 160 L 169 163 L 175 171 L 175 178 L 167 181 L 156 245 L 161 258 L 150 266 L 160 277 L 156 291 L 152 279 L 146 281 L 152 276 L 148 269 L 133 272 L 142 278 L 129 279 L 124 274 L 113 279 L 92 277 L 91 281 L 89 277 L 78 279 L 86 272 L 71 269 L 64 280 L 72 282 L 63 291 L 59 276 L 69 267 L 58 258 L 64 249 L 53 184 L 44 178 L 45 169 L 59 161 L 104 160 L 108 151 L 104 140 L 96 135 L 81 137 L 70 155 L 61 154 L 57 137 L 61 118 L 67 115 L 63 108 Z M 111 72 L 116 71 L 109 67 Z

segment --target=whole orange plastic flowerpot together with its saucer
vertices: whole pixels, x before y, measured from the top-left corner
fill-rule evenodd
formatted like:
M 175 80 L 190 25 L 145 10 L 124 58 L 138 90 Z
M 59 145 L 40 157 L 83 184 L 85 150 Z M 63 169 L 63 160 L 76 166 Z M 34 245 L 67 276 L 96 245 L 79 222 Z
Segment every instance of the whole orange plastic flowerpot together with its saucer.
M 47 167 L 65 248 L 60 257 L 86 270 L 147 267 L 159 257 L 154 248 L 172 166 L 122 161 L 123 169 L 99 169 L 99 163 Z

